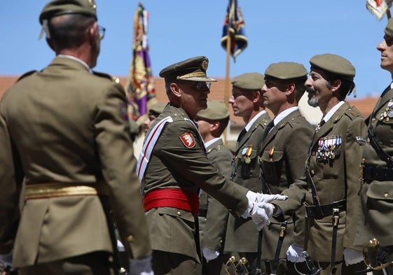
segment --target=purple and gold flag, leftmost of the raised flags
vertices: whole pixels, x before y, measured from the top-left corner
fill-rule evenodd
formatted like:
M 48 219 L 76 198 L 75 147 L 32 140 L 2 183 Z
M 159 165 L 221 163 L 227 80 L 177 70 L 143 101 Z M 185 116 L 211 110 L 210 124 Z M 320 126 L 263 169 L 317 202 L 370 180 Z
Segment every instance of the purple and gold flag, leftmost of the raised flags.
M 149 13 L 139 3 L 134 17 L 132 62 L 127 77 L 128 113 L 133 120 L 141 120 L 149 106 L 156 103 L 156 86 L 151 73 L 149 45 L 147 43 Z

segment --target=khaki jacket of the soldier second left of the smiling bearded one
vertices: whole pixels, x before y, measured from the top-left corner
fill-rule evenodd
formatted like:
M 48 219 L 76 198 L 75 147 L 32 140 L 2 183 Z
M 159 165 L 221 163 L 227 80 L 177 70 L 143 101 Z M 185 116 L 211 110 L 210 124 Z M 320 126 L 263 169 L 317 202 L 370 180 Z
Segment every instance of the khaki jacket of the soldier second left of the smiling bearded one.
M 244 186 L 253 192 L 261 192 L 262 183 L 259 179 L 258 156 L 261 153 L 262 136 L 270 122 L 268 113 L 261 115 L 251 126 L 249 131 L 236 144 L 235 158 L 233 159 L 233 172 L 235 183 Z M 244 148 L 252 146 L 250 160 L 247 164 Z M 258 250 L 258 230 L 256 225 L 248 218 L 228 217 L 226 230 L 225 252 L 256 252 Z

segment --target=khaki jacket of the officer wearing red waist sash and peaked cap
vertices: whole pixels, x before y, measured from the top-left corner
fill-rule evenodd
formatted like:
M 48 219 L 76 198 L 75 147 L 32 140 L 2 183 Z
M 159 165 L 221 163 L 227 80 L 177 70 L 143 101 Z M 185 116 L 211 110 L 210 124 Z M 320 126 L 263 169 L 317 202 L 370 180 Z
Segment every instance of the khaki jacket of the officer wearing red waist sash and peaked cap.
M 230 182 L 210 164 L 202 137 L 183 108 L 168 104 L 150 130 L 167 116 L 174 121 L 165 126 L 156 141 L 142 179 L 142 194 L 161 188 L 180 188 L 198 195 L 201 188 L 226 206 L 230 213 L 241 216 L 248 206 L 247 189 Z M 186 133 L 195 141 L 191 147 L 181 141 Z M 146 218 L 153 250 L 179 253 L 198 260 L 196 215 L 177 208 L 159 207 L 147 211 Z

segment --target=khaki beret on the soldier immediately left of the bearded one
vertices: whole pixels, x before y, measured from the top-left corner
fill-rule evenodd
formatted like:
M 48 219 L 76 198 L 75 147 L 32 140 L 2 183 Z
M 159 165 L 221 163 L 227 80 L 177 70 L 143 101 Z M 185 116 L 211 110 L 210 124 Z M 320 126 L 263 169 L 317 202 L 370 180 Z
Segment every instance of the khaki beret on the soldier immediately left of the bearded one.
M 282 80 L 293 78 L 306 78 L 308 71 L 303 64 L 296 62 L 278 62 L 268 66 L 265 71 L 266 78 L 278 78 Z

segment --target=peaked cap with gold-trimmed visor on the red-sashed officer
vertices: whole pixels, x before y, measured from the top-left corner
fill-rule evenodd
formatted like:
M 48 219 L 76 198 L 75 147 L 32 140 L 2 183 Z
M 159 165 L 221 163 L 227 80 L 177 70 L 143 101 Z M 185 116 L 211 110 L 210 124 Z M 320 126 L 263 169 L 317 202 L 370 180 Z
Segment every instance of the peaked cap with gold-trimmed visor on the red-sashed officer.
M 192 57 L 162 69 L 160 77 L 165 78 L 166 83 L 173 80 L 215 82 L 217 80 L 206 76 L 208 65 L 207 57 Z

